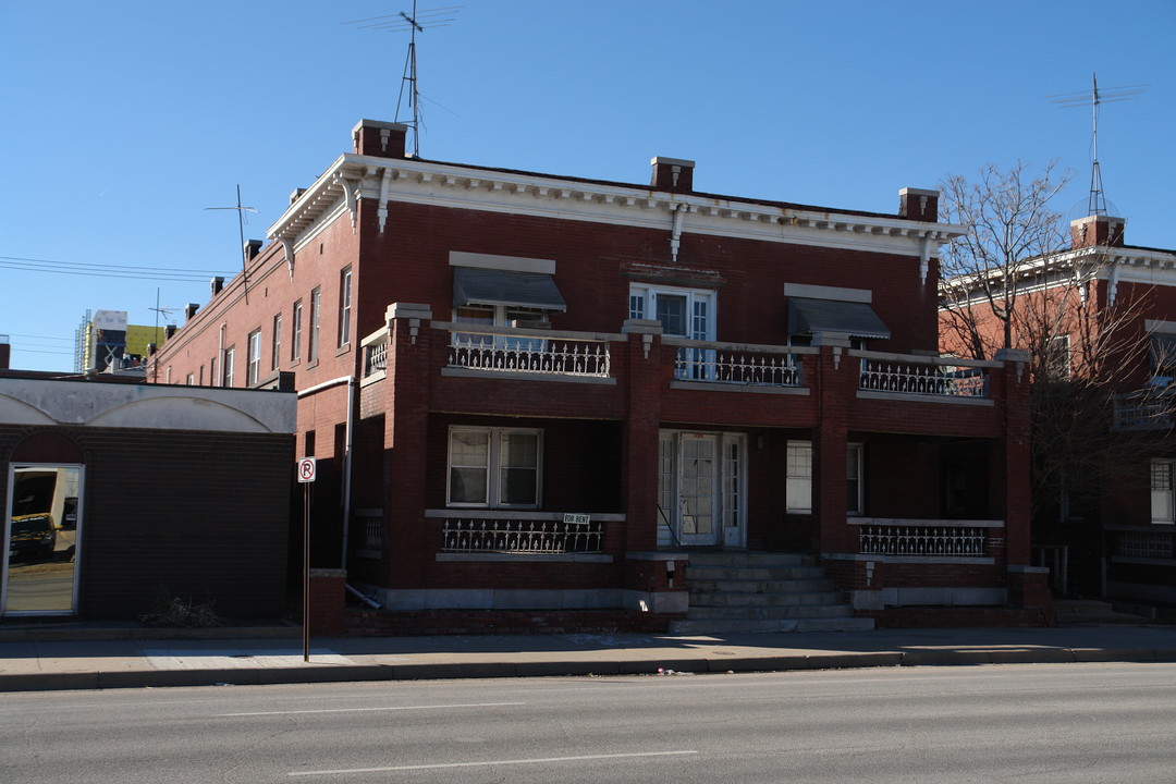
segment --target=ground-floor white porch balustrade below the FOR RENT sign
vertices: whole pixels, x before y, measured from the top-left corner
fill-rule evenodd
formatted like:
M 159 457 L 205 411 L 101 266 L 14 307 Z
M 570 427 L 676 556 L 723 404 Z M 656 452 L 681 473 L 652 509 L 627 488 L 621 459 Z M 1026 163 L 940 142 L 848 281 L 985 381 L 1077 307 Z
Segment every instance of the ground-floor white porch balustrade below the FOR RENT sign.
M 601 552 L 603 521 L 447 517 L 441 524 L 442 552 Z

